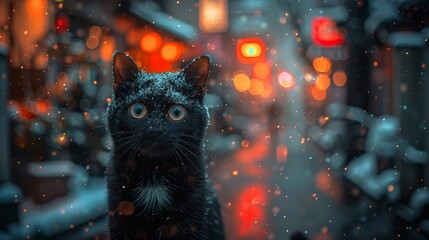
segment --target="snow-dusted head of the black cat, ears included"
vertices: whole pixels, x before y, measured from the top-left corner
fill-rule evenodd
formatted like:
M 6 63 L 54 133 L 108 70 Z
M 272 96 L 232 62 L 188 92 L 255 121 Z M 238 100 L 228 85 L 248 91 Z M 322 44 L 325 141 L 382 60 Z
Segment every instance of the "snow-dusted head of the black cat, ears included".
M 181 72 L 150 74 L 116 52 L 114 97 L 107 111 L 115 149 L 134 149 L 146 157 L 195 152 L 207 127 L 202 100 L 209 68 L 210 58 L 201 56 Z

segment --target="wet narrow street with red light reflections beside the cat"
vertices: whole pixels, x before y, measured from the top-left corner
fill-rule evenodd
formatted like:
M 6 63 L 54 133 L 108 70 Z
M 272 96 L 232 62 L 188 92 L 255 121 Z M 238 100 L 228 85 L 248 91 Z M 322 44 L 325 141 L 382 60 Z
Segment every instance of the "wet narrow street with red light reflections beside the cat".
M 231 239 L 338 239 L 344 218 L 341 186 L 324 153 L 310 140 L 304 112 L 304 76 L 298 44 L 288 28 L 279 51 L 296 79 L 281 93 L 279 127 L 264 134 L 210 170 L 221 186 L 219 198 Z M 244 146 L 244 147 L 243 147 Z M 210 169 L 210 168 L 209 168 Z M 255 237 L 256 236 L 256 237 Z

